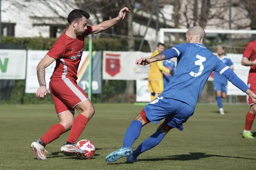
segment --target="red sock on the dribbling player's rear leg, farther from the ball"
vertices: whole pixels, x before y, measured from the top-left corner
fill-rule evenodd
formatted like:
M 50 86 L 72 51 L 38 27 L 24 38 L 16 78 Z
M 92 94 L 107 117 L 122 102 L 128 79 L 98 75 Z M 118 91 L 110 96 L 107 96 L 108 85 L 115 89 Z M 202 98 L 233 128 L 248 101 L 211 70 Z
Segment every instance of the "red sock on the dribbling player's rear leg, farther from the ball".
M 65 133 L 66 129 L 61 124 L 53 125 L 40 139 L 44 142 L 45 145 L 51 143 L 55 139 L 58 139 L 62 133 Z

